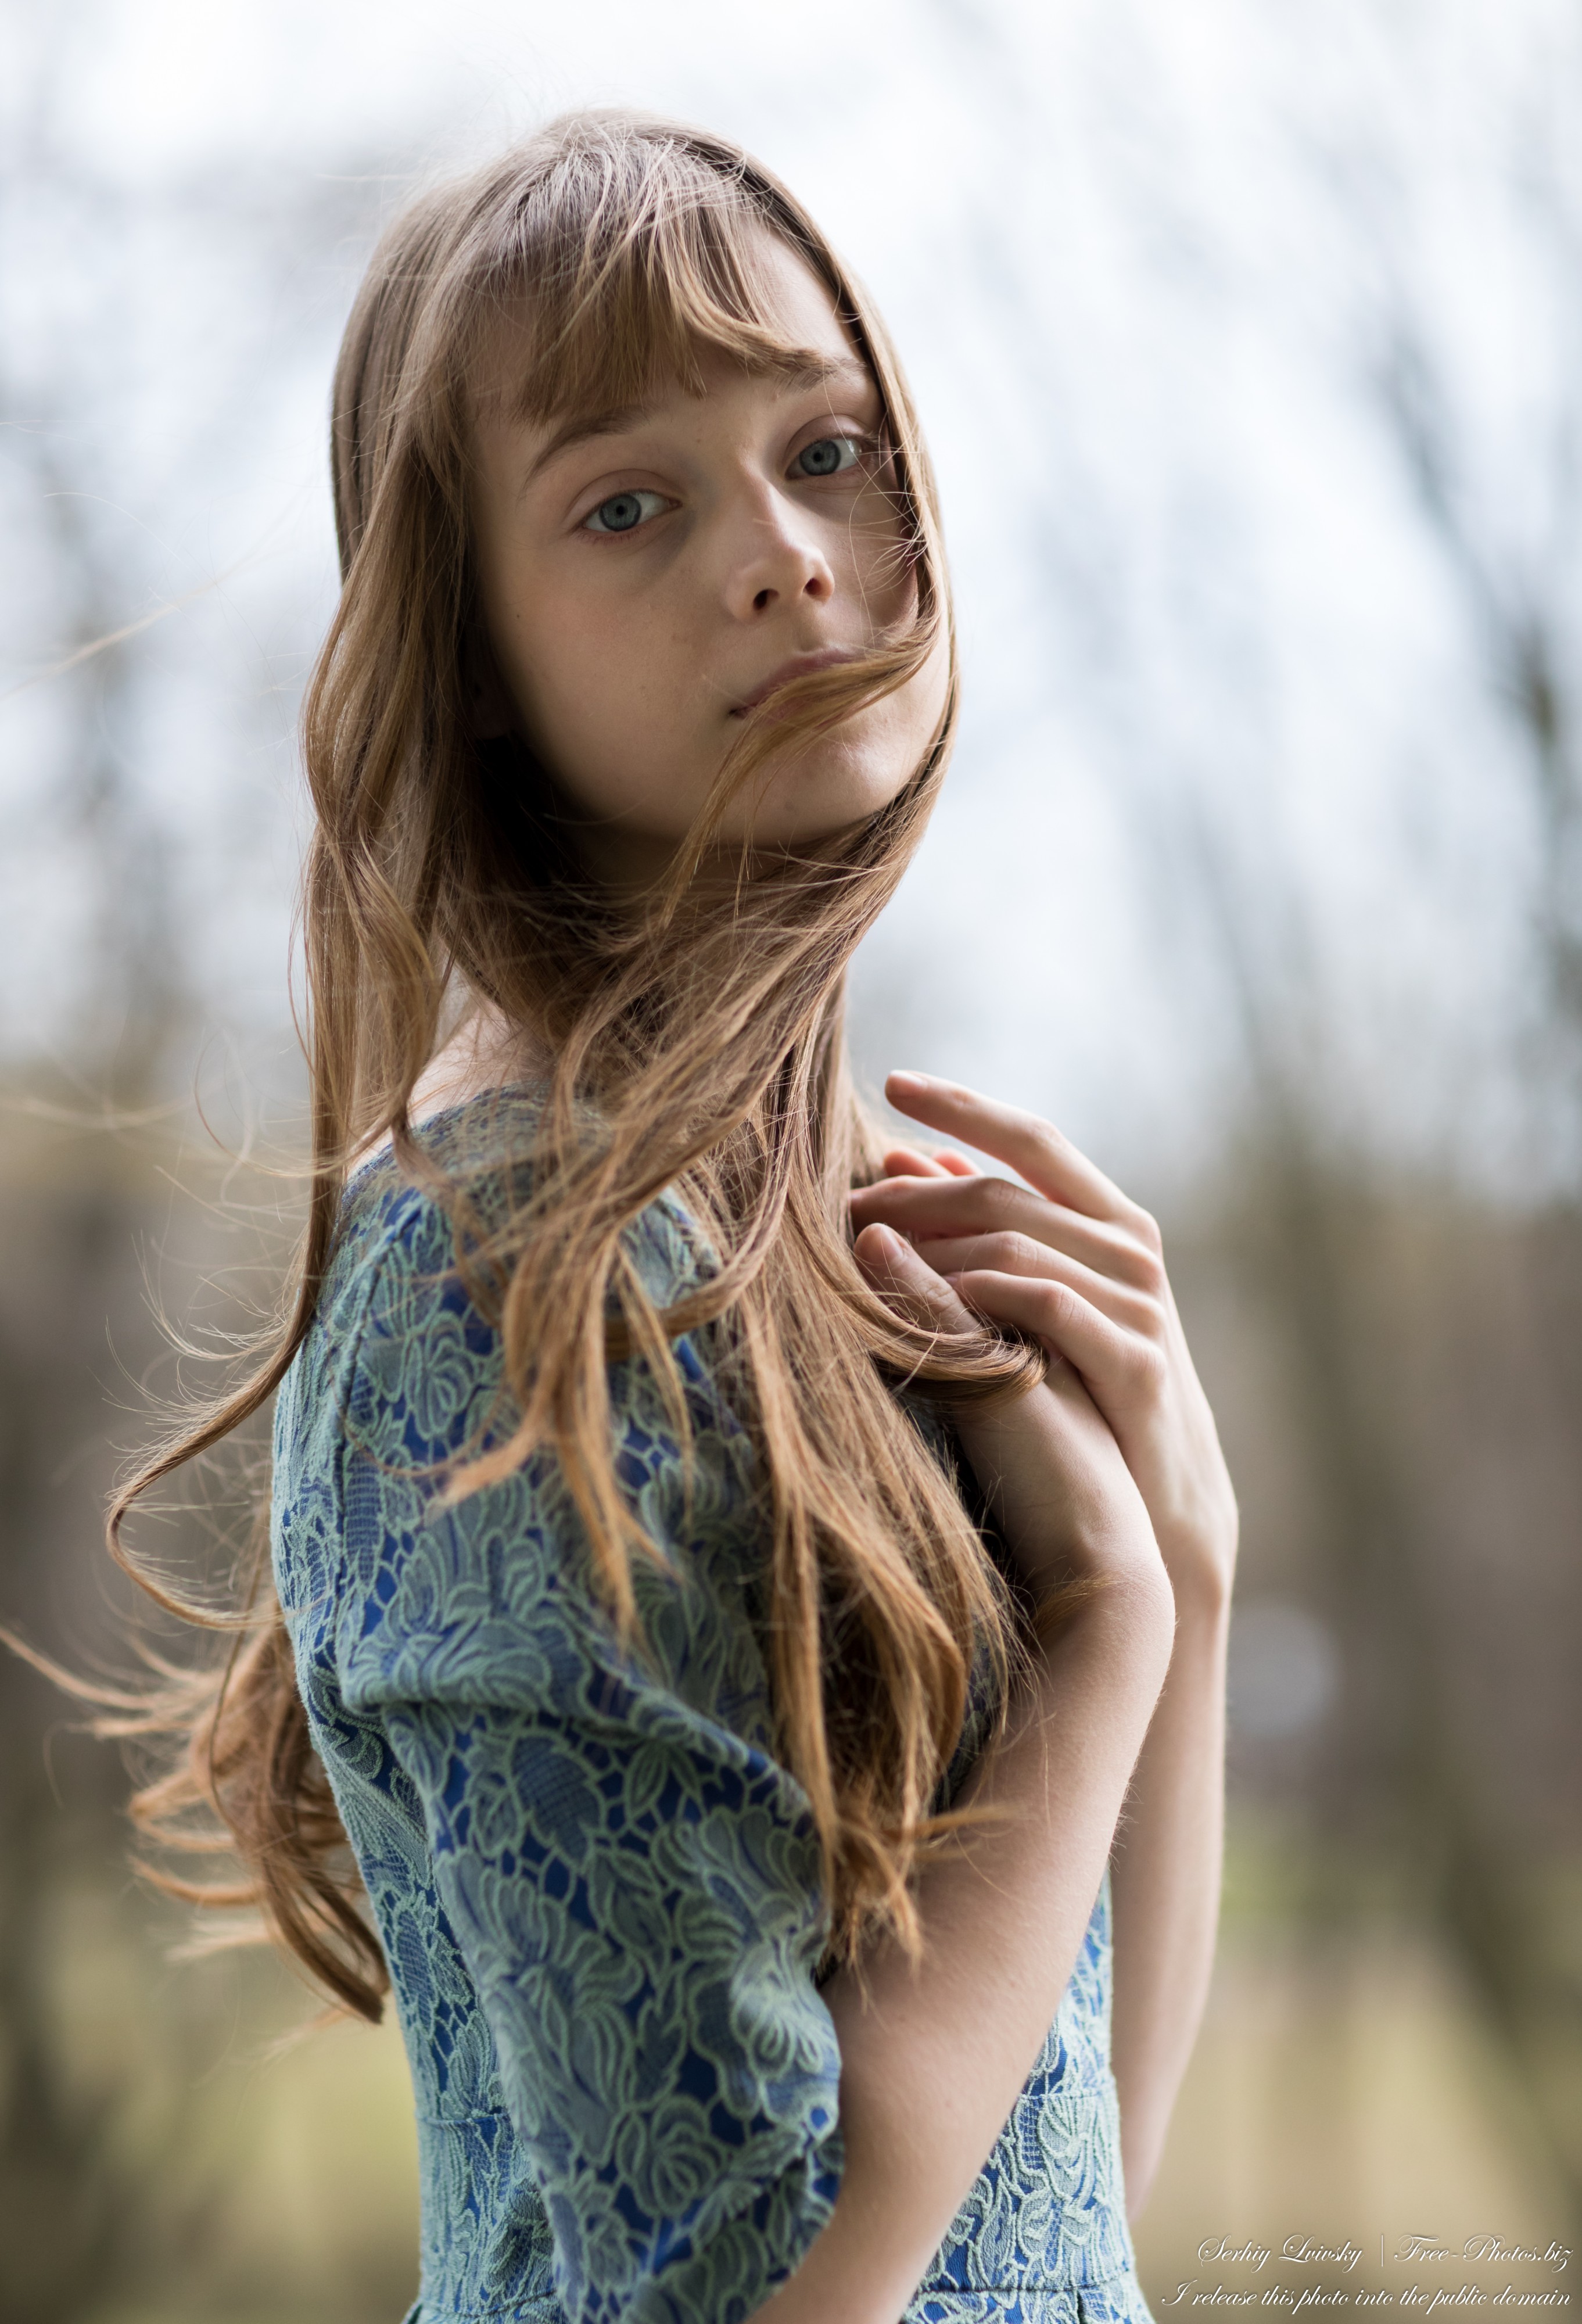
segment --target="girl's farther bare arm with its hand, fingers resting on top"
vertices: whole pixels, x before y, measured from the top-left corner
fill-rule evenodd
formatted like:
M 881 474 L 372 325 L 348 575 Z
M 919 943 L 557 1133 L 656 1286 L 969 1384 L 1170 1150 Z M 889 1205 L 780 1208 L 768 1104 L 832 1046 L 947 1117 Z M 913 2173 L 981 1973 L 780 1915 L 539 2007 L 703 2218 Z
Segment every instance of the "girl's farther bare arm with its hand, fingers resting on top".
M 892 1104 L 1017 1169 L 897 1148 L 855 1197 L 980 1313 L 1036 1334 L 1083 1376 L 1148 1508 L 1175 1594 L 1171 1671 L 1115 1845 L 1115 2022 L 1127 2199 L 1164 2147 L 1208 1992 L 1220 1910 L 1224 1641 L 1236 1494 L 1155 1222 L 1048 1122 L 950 1083 L 892 1076 Z

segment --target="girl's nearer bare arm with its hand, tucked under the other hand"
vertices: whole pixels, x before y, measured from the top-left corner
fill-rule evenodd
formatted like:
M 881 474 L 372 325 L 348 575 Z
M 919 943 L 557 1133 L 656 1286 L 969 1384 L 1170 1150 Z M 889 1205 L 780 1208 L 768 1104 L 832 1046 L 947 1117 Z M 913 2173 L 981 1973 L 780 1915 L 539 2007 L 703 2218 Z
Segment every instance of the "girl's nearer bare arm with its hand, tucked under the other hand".
M 883 1227 L 860 1260 L 943 1329 L 955 1294 Z M 1113 1432 L 1073 1371 L 959 1420 L 1036 1587 L 1103 1590 L 1045 1648 L 962 1799 L 1004 1820 L 918 1880 L 922 1961 L 876 1943 L 825 1999 L 841 2038 L 846 2168 L 827 2229 L 764 2324 L 894 2324 L 983 2168 L 1071 1980 L 1171 1652 L 1171 1587 Z M 864 1992 L 866 1987 L 866 1992 Z

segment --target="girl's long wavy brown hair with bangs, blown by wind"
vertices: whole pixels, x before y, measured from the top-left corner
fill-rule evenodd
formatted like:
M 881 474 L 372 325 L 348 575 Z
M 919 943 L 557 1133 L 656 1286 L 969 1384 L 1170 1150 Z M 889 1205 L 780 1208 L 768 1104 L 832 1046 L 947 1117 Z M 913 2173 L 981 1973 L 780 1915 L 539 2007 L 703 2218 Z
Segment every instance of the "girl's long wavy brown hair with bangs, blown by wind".
M 620 407 L 655 379 L 695 381 L 699 349 L 753 370 L 797 363 L 762 293 L 764 230 L 829 288 L 880 388 L 915 618 L 904 637 L 781 690 L 771 723 L 748 720 L 662 890 L 616 909 L 567 839 L 553 769 L 518 741 L 472 732 L 472 395 L 506 314 L 525 316 L 520 407 L 534 418 Z M 606 1364 L 611 1353 L 648 1362 L 685 1443 L 671 1341 L 709 1329 L 764 1466 L 769 1683 L 822 1843 L 834 1950 L 850 1957 L 878 1922 L 915 1945 L 908 1880 L 941 1829 L 929 1808 L 962 1731 L 971 1655 L 987 1648 L 1004 1680 L 1015 1624 L 952 1478 L 892 1390 L 1006 1390 L 1041 1360 L 987 1332 L 941 1341 L 897 1318 L 864 1283 L 846 1220 L 846 1195 L 878 1171 L 848 1076 L 846 967 L 913 853 L 955 723 L 939 514 L 906 381 L 871 307 L 767 170 L 699 130 L 576 114 L 386 232 L 346 328 L 332 451 L 344 590 L 302 713 L 316 809 L 302 913 L 307 1236 L 256 1369 L 125 1483 L 112 1548 L 139 1571 L 121 1538 L 130 1506 L 279 1385 L 314 1318 L 351 1157 L 388 1134 L 397 1162 L 437 1183 L 460 1220 L 465 1195 L 437 1178 L 409 1104 L 448 997 L 474 995 L 530 1027 L 553 1071 L 532 1195 L 469 1255 L 497 1285 L 516 1429 L 448 1492 L 553 1446 L 625 1634 L 630 1559 L 650 1543 L 611 1466 Z M 774 753 L 904 686 L 941 639 L 945 711 L 890 806 L 815 848 L 743 860 L 725 902 L 718 878 L 697 881 L 725 806 Z M 716 1264 L 657 1313 L 623 1234 L 664 1188 Z M 139 1578 L 160 1604 L 204 1618 Z M 177 1764 L 135 1801 L 144 1831 L 242 1862 L 232 1887 L 165 1885 L 256 1906 L 330 1994 L 376 2017 L 386 1966 L 263 1562 L 225 1664 L 107 1724 L 181 1738 Z

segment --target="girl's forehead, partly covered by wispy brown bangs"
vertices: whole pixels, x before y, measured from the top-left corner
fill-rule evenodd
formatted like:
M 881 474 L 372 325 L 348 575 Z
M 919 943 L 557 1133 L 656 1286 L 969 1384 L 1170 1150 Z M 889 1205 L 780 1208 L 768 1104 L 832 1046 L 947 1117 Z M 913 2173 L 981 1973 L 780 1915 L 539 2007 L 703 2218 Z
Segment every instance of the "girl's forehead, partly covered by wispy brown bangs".
M 576 353 L 567 349 L 571 360 L 555 363 L 544 344 L 544 314 L 530 295 L 497 307 L 472 365 L 474 421 L 488 435 L 506 425 L 539 442 L 571 439 L 606 432 L 637 407 L 650 409 L 681 393 L 706 395 L 743 374 L 785 388 L 827 379 L 848 393 L 873 383 L 850 323 L 799 251 L 755 225 L 741 256 L 750 265 L 750 318 L 692 321 L 671 302 L 660 311 L 650 297 L 625 302 L 625 311 L 609 316 L 611 335 L 625 325 L 625 344 L 611 344 L 606 363 L 590 363 L 585 342 Z

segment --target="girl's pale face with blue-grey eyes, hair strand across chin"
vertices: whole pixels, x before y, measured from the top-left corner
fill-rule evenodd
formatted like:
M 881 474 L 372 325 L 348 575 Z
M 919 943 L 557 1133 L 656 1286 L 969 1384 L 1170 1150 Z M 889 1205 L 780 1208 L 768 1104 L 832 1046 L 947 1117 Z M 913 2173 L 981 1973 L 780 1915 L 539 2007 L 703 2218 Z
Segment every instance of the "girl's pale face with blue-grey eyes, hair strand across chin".
M 504 688 L 483 683 L 479 730 L 527 737 L 588 818 L 592 869 L 620 883 L 664 869 L 757 697 L 915 614 L 873 376 L 769 232 L 764 270 L 783 342 L 818 358 L 804 374 L 706 349 L 702 395 L 534 423 L 509 411 L 506 356 L 479 414 L 474 539 Z M 876 813 L 945 686 L 939 641 L 899 693 L 755 776 L 720 837 L 794 846 Z

